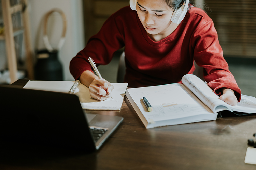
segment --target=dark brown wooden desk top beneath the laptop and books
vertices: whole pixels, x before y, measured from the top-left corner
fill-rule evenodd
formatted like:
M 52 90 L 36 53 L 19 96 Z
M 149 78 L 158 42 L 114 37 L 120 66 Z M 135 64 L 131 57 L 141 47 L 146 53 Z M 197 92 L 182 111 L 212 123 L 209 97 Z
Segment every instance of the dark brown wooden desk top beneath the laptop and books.
M 26 81 L 25 81 L 26 83 Z M 24 80 L 13 86 L 23 87 Z M 124 121 L 91 154 L 53 148 L 1 147 L 0 169 L 96 170 L 255 170 L 245 164 L 247 139 L 256 132 L 256 115 L 227 115 L 216 121 L 146 129 L 125 97 L 120 111 L 87 111 Z

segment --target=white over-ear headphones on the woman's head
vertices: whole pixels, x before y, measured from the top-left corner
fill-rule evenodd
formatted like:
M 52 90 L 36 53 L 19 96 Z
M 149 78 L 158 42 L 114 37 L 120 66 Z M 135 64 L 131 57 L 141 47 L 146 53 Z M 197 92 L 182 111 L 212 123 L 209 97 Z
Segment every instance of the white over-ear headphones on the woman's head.
M 172 22 L 177 24 L 181 23 L 181 21 L 184 19 L 187 13 L 188 4 L 189 4 L 189 0 L 186 0 L 185 5 L 183 4 L 181 8 L 173 11 L 172 18 L 171 18 Z M 132 10 L 136 11 L 136 5 L 137 5 L 137 0 L 130 0 L 130 7 Z

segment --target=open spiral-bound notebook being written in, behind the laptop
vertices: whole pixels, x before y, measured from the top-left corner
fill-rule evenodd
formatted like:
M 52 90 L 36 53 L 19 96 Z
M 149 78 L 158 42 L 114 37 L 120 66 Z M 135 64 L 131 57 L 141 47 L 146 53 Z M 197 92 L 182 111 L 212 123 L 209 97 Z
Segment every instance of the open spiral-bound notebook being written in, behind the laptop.
M 74 86 L 75 81 L 37 81 L 30 80 L 23 87 L 26 89 L 45 90 L 55 92 L 68 93 Z M 104 101 L 99 101 L 91 98 L 89 94 L 89 88 L 80 83 L 74 90 L 74 94 L 79 97 L 81 106 L 87 110 L 120 110 L 125 91 L 128 83 L 111 83 L 114 86 L 114 90 L 111 93 L 111 98 Z

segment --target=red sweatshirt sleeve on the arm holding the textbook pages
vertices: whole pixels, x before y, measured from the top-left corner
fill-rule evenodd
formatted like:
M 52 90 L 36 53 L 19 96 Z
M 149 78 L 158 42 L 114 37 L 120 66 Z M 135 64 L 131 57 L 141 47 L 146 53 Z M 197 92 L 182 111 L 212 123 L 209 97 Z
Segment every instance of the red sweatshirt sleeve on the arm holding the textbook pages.
M 204 22 L 195 30 L 192 41 L 194 60 L 198 66 L 204 68 L 204 80 L 217 95 L 221 95 L 220 88 L 229 88 L 234 91 L 235 96 L 240 101 L 241 90 L 223 57 L 223 51 L 212 20 Z

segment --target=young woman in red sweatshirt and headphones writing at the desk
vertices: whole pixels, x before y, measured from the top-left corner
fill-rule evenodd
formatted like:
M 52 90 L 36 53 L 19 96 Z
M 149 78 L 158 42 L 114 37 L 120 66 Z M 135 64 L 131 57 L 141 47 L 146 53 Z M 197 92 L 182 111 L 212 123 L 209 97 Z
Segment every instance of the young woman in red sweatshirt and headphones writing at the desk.
M 89 87 L 91 97 L 105 100 L 113 86 L 93 73 L 88 58 L 106 65 L 124 46 L 129 87 L 181 83 L 183 75 L 195 70 L 195 60 L 221 100 L 230 105 L 240 101 L 212 20 L 189 0 L 130 0 L 130 7 L 111 15 L 70 62 L 71 74 Z

